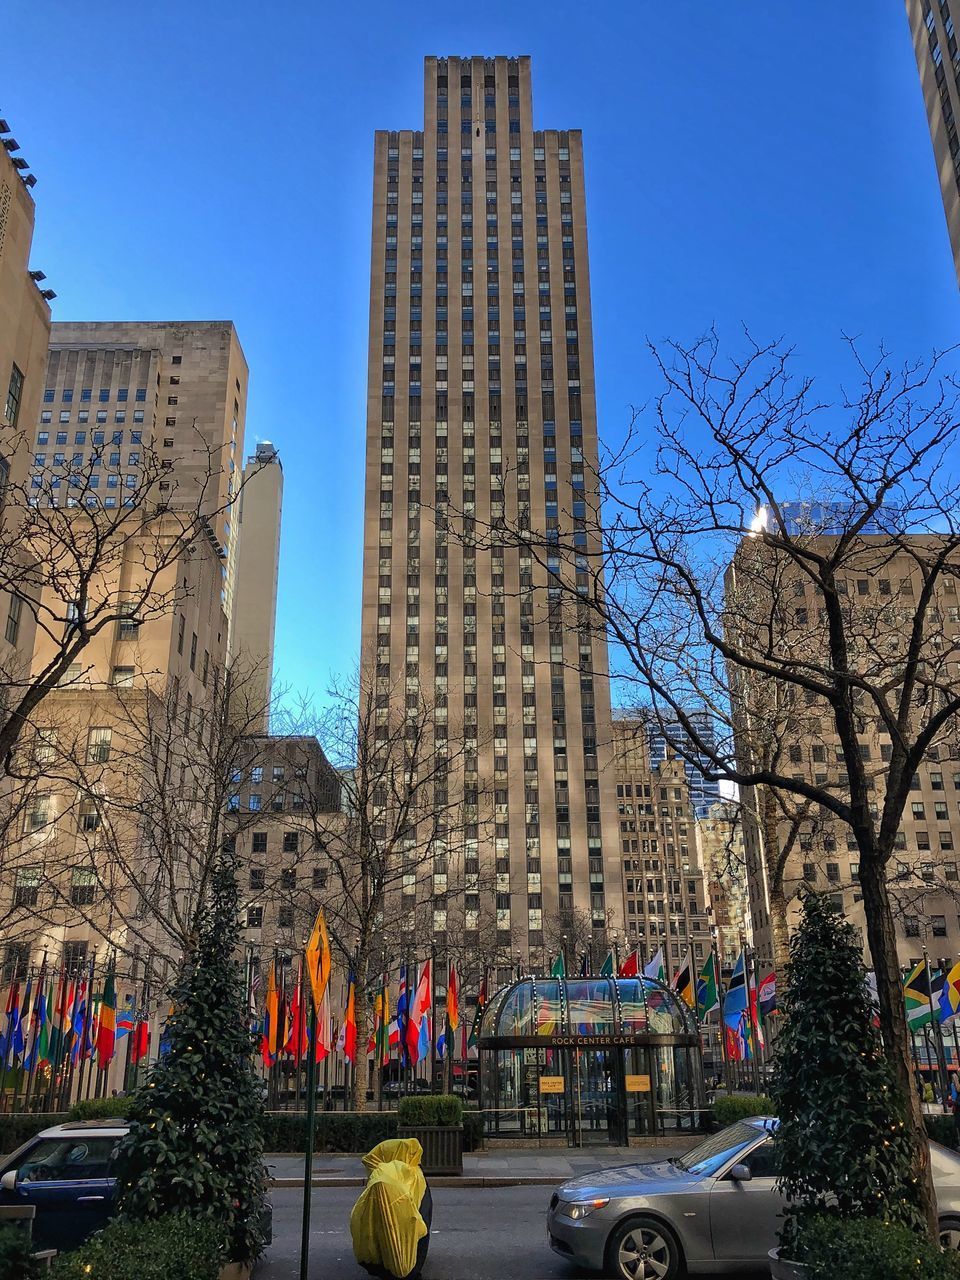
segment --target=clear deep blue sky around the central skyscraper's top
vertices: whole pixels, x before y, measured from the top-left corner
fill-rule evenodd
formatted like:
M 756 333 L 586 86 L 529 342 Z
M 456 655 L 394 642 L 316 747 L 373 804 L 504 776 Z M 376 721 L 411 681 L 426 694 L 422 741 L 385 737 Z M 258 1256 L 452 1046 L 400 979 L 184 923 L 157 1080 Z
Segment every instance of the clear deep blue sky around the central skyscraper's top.
M 294 686 L 357 659 L 372 133 L 420 125 L 425 54 L 530 54 L 536 125 L 584 131 L 602 433 L 648 335 L 745 323 L 829 387 L 841 330 L 960 334 L 900 0 L 8 0 L 4 31 L 55 317 L 237 324 Z

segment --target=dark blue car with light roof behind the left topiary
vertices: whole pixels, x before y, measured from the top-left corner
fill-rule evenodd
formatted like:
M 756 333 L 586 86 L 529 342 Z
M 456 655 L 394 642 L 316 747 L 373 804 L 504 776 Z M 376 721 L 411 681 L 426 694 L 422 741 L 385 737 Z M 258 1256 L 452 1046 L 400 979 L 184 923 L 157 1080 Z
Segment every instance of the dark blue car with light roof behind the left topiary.
M 114 1155 L 125 1120 L 78 1120 L 44 1129 L 10 1156 L 0 1157 L 0 1204 L 35 1204 L 37 1249 L 76 1249 L 105 1226 L 114 1212 Z M 264 1206 L 264 1243 L 273 1235 L 273 1211 Z

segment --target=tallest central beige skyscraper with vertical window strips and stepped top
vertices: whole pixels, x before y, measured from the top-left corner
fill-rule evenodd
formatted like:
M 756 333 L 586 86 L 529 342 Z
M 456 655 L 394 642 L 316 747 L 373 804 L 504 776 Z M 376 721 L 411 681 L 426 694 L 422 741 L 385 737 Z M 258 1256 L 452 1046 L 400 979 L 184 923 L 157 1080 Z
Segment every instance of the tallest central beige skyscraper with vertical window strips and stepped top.
M 529 58 L 428 58 L 424 87 L 424 128 L 375 141 L 362 666 L 384 719 L 420 698 L 462 735 L 494 805 L 466 873 L 536 959 L 573 913 L 623 925 L 605 641 L 495 535 L 599 545 L 582 145 L 534 128 Z M 474 896 L 435 882 L 436 928 Z

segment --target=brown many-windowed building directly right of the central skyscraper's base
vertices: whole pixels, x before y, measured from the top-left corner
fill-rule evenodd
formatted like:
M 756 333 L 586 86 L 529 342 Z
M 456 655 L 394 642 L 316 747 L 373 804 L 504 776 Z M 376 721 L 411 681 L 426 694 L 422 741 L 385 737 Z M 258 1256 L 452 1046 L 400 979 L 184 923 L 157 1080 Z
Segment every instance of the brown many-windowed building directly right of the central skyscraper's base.
M 650 759 L 643 721 L 613 722 L 627 947 L 649 960 L 662 946 L 669 975 L 687 946 L 703 963 L 710 914 L 684 762 Z

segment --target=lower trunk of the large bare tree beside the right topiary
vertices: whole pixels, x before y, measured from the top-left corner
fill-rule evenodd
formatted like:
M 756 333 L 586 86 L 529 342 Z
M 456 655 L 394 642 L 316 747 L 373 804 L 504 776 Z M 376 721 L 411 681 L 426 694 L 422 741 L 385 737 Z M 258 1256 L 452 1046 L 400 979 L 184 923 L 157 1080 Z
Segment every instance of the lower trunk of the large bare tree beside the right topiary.
M 904 1098 L 906 1123 L 913 1130 L 914 1170 L 920 1192 L 920 1211 L 936 1239 L 937 1201 L 933 1193 L 923 1106 L 914 1085 L 913 1062 L 910 1061 L 904 986 L 897 961 L 896 931 L 893 914 L 890 909 L 887 879 L 879 858 L 876 855 L 864 858 L 863 847 L 860 850 L 860 890 L 864 916 L 867 918 L 867 941 L 873 960 L 873 972 L 877 975 L 881 1037 Z

